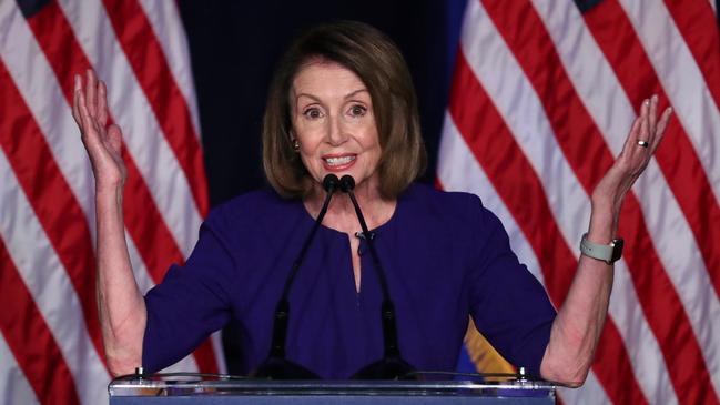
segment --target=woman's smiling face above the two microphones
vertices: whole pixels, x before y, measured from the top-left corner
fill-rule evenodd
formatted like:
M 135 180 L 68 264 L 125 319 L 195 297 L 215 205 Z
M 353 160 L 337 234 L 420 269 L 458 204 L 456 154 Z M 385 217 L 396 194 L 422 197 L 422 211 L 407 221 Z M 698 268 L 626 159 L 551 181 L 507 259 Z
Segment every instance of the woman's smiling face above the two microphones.
M 357 186 L 377 186 L 381 144 L 373 100 L 351 70 L 317 61 L 300 70 L 291 91 L 293 134 L 303 164 L 322 183 L 349 174 Z

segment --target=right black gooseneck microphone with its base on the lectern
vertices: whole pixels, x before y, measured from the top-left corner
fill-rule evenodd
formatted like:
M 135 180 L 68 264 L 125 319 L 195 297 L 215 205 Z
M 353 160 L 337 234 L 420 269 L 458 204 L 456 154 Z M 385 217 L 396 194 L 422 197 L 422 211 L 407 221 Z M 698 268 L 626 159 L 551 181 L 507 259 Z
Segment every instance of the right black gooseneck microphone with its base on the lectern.
M 374 234 L 367 229 L 365 223 L 365 217 L 361 211 L 359 204 L 355 199 L 353 190 L 355 189 L 355 179 L 346 174 L 339 180 L 339 189 L 343 193 L 346 193 L 351 201 L 353 202 L 353 207 L 355 209 L 355 215 L 359 221 L 361 229 L 363 230 L 363 235 L 367 242 L 367 247 L 369 249 L 371 256 L 373 259 L 373 264 L 375 272 L 377 274 L 377 280 L 379 280 L 381 288 L 383 292 L 383 303 L 381 304 L 381 315 L 382 315 L 382 325 L 383 325 L 383 344 L 385 353 L 383 358 L 377 362 L 373 362 L 367 366 L 361 368 L 353 379 L 416 379 L 416 374 L 410 374 L 415 372 L 415 367 L 409 365 L 400 356 L 399 345 L 397 343 L 397 327 L 395 324 L 395 305 L 391 300 L 389 290 L 387 288 L 387 279 L 385 277 L 385 270 L 381 263 L 379 256 L 375 251 L 375 245 L 373 243 Z M 412 376 L 410 376 L 412 375 Z

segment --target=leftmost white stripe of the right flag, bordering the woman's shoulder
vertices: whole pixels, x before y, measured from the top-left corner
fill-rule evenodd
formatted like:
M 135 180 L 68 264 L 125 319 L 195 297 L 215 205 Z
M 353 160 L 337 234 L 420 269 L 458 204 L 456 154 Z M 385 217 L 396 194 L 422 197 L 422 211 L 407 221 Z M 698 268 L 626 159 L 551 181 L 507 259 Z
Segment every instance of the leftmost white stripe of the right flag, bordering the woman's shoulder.
M 447 191 L 465 191 L 480 196 L 483 204 L 495 213 L 510 237 L 513 251 L 517 254 L 521 263 L 535 275 L 542 284 L 544 277 L 540 265 L 533 251 L 533 246 L 525 239 L 523 231 L 515 222 L 505 203 L 500 200 L 493 188 L 489 179 L 480 168 L 479 163 L 467 146 L 465 139 L 457 130 L 450 114 L 445 114 L 443 128 L 443 139 L 438 151 L 438 171 L 437 175 L 443 186 Z M 565 401 L 568 398 L 607 398 L 605 391 L 599 385 L 592 371 L 588 379 L 579 389 L 560 391 Z M 569 403 L 580 403 L 570 401 Z M 602 404 L 604 402 L 599 402 Z M 607 402 L 605 402 L 607 403 Z

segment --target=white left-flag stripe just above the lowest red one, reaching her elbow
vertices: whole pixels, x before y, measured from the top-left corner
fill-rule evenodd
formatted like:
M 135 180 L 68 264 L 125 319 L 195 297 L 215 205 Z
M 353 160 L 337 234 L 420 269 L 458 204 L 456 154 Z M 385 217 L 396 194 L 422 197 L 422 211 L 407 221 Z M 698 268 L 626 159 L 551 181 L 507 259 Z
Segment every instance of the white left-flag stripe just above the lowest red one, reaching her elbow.
M 0 235 L 72 373 L 85 404 L 107 401 L 110 376 L 90 340 L 78 295 L 0 153 Z M 39 269 L 48 271 L 39 271 Z M 60 271 L 58 271 L 60 270 Z

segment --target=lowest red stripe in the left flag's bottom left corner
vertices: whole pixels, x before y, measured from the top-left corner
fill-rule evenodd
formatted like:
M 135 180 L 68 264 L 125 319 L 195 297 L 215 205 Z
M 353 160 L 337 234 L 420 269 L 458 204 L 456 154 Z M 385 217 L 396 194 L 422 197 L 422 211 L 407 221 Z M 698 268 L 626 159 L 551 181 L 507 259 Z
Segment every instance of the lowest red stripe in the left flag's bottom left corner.
M 72 373 L 1 237 L 0 306 L 6 308 L 0 311 L 2 337 L 40 403 L 80 403 Z

